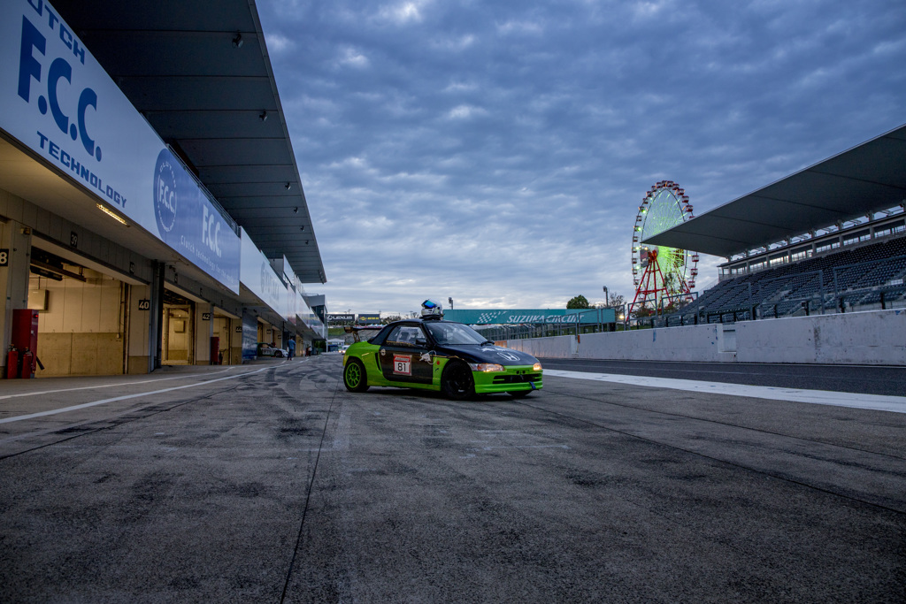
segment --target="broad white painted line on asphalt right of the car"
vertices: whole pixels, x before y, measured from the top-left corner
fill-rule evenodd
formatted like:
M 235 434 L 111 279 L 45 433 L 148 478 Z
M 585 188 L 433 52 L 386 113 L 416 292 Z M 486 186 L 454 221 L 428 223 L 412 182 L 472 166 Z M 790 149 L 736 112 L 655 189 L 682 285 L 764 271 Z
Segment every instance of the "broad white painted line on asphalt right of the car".
M 906 397 L 892 397 L 878 394 L 857 394 L 853 392 L 832 392 L 830 390 L 804 390 L 800 388 L 777 388 L 773 386 L 746 386 L 724 382 L 706 382 L 693 379 L 646 378 L 641 376 L 622 376 L 612 373 L 585 373 L 584 371 L 561 371 L 545 369 L 545 376 L 552 378 L 591 379 L 593 381 L 627 384 L 629 386 L 647 386 L 650 388 L 671 388 L 689 392 L 707 392 L 724 394 L 733 397 L 767 398 L 769 400 L 789 400 L 796 403 L 813 403 L 834 407 L 853 407 L 856 409 L 874 409 L 906 413 Z

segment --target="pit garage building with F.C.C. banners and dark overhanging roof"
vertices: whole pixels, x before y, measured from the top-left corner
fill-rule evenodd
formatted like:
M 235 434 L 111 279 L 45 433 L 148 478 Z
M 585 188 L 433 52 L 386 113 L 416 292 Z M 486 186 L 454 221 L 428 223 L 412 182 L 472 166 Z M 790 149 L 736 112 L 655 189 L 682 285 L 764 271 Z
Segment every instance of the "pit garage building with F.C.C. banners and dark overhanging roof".
M 326 276 L 254 3 L 0 11 L 3 350 L 36 326 L 37 375 L 111 375 L 324 340 L 305 284 Z

